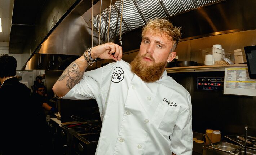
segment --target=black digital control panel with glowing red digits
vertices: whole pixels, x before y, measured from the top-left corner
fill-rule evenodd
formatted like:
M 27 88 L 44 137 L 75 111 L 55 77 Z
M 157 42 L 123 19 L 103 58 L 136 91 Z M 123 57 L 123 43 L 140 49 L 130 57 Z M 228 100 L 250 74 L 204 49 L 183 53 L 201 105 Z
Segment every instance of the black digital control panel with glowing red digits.
M 197 77 L 197 89 L 223 90 L 224 77 Z

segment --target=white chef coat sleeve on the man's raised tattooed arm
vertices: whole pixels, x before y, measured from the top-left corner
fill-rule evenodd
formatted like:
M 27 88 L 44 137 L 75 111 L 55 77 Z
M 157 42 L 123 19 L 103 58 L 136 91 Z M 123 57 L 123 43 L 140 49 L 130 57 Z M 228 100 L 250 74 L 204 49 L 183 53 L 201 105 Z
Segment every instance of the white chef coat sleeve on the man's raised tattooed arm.
M 102 67 L 84 72 L 82 79 L 65 96 L 64 99 L 87 100 L 96 99 L 100 92 Z

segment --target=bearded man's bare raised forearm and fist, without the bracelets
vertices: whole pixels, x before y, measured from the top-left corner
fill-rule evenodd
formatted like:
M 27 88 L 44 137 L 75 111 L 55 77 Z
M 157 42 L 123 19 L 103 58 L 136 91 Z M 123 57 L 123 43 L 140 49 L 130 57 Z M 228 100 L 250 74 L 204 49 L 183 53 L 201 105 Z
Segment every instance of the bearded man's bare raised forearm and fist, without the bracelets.
M 114 55 L 112 53 L 115 53 Z M 88 55 L 88 54 L 87 54 Z M 91 56 L 93 59 L 113 59 L 115 61 L 122 58 L 122 47 L 114 43 L 106 43 L 91 49 Z M 53 92 L 58 97 L 65 96 L 71 88 L 73 88 L 82 79 L 87 64 L 84 56 L 72 62 L 59 77 L 53 86 Z

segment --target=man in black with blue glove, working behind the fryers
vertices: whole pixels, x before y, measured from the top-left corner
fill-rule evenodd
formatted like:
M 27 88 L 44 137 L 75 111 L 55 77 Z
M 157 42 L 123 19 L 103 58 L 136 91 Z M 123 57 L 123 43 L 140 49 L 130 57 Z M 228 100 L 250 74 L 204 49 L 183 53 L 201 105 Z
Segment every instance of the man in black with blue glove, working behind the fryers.
M 42 83 L 38 83 L 35 85 L 35 93 L 31 94 L 32 103 L 35 104 L 36 108 L 34 109 L 36 111 L 36 122 L 37 124 L 37 131 L 38 131 L 38 138 L 39 138 L 39 144 L 41 147 L 41 150 L 45 150 L 47 152 L 47 149 L 49 149 L 50 144 L 49 141 L 49 130 L 48 130 L 48 124 L 46 121 L 46 115 L 44 110 L 52 111 L 53 113 L 58 112 L 55 107 L 50 106 L 47 102 L 47 94 L 45 93 L 45 86 Z M 44 152 L 42 152 L 44 153 Z

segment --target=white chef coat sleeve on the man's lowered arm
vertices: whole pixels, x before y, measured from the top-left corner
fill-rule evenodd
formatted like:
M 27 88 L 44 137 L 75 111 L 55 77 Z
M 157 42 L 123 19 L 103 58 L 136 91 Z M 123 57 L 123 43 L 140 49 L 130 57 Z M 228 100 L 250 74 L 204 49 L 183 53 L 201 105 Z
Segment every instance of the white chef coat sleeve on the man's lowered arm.
M 170 136 L 170 149 L 177 155 L 191 155 L 193 147 L 192 106 L 190 95 L 187 97 L 188 107 L 176 120 L 173 133 Z

